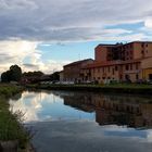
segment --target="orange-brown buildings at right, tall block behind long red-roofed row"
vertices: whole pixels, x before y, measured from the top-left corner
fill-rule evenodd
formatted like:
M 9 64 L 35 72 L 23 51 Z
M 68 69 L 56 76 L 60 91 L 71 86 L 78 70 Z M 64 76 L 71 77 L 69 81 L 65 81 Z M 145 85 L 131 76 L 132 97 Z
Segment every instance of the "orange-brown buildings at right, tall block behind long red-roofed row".
M 84 80 L 98 83 L 152 80 L 152 42 L 99 45 L 94 62 L 81 69 Z

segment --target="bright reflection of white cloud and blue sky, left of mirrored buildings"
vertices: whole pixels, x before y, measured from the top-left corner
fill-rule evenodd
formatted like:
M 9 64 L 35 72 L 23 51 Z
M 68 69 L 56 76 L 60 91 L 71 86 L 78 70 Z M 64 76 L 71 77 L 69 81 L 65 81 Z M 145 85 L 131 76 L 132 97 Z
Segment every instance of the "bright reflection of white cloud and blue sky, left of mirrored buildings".
M 94 113 L 86 113 L 64 105 L 64 99 L 53 92 L 25 91 L 20 100 L 10 100 L 12 111 L 22 111 L 25 122 L 56 119 L 94 119 Z

